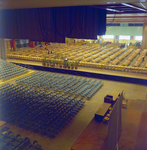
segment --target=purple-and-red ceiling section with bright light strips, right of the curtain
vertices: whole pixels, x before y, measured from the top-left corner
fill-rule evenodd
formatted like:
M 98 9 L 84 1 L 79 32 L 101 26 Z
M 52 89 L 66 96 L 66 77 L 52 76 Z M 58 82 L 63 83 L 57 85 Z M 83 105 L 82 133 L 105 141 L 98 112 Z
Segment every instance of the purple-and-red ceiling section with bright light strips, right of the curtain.
M 107 10 L 107 23 L 144 23 L 147 22 L 147 3 L 121 3 L 98 5 Z

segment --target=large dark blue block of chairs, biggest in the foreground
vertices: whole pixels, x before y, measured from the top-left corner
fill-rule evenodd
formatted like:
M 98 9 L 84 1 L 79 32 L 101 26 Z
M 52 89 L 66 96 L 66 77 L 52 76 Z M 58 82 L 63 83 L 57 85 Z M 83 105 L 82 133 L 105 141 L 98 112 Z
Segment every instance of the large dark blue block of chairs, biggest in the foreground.
M 0 119 L 49 137 L 55 135 L 76 115 L 85 101 L 22 85 L 0 87 Z

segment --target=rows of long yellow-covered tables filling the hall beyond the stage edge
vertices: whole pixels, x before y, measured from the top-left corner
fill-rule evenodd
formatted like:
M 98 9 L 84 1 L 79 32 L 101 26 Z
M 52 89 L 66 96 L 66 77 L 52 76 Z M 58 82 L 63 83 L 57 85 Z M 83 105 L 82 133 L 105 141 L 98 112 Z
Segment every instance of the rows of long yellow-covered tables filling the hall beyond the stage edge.
M 141 51 L 140 49 L 52 44 L 10 52 L 7 57 L 42 61 L 46 56 L 47 60 L 56 60 L 60 63 L 63 63 L 63 58 L 67 58 L 69 63 L 80 61 L 80 66 L 147 73 L 147 62 L 144 65 L 141 64 L 142 56 L 146 57 L 146 53 L 146 50 Z M 138 58 L 139 55 L 140 58 Z

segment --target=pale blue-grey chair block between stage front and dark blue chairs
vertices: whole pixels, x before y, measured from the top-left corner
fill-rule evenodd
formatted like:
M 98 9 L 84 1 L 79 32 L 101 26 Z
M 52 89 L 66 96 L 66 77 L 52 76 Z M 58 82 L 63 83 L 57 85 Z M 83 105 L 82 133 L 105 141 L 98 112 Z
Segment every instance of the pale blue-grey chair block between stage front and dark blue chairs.
M 51 92 L 50 95 L 58 92 L 87 98 L 91 98 L 103 85 L 102 81 L 39 71 L 16 80 L 16 83 L 44 89 Z

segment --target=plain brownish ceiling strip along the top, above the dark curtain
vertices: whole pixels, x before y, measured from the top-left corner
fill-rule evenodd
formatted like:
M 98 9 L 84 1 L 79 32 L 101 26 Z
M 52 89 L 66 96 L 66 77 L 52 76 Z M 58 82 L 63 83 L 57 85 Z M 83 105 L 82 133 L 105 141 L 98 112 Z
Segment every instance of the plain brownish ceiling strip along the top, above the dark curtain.
M 146 0 L 0 0 L 0 9 L 107 5 L 121 3 L 135 3 L 136 5 L 140 5 L 140 2 L 145 3 Z

